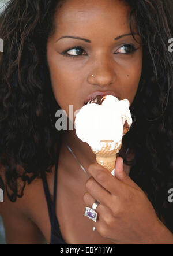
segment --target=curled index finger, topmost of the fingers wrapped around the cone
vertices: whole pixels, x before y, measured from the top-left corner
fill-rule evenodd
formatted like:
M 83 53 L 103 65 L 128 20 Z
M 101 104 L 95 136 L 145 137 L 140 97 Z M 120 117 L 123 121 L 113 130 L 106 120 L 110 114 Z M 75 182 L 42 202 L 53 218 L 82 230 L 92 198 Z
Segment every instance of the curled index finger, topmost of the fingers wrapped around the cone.
M 122 182 L 108 172 L 103 166 L 93 163 L 89 165 L 89 174 L 111 194 L 119 194 L 122 190 Z

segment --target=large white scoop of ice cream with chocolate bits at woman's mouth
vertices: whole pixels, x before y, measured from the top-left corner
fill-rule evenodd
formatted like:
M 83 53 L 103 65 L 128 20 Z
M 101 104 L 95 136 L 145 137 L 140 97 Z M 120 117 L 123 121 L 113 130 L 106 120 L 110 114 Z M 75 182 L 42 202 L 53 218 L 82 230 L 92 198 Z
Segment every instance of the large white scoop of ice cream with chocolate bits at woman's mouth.
M 95 152 L 103 147 L 101 140 L 112 141 L 112 149 L 118 150 L 132 124 L 129 106 L 127 99 L 119 101 L 112 95 L 104 96 L 101 105 L 89 101 L 76 115 L 76 135 Z

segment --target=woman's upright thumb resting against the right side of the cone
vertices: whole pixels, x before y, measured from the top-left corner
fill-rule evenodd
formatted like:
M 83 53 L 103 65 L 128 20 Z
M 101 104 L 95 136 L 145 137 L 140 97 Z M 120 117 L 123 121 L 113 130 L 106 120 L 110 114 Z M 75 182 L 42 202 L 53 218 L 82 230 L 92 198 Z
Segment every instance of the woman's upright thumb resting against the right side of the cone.
M 123 159 L 121 157 L 118 157 L 116 159 L 115 177 L 127 185 L 133 185 L 133 187 L 138 187 L 138 185 L 134 183 L 134 181 L 131 180 L 131 178 L 127 175 L 127 173 L 125 173 L 123 168 Z

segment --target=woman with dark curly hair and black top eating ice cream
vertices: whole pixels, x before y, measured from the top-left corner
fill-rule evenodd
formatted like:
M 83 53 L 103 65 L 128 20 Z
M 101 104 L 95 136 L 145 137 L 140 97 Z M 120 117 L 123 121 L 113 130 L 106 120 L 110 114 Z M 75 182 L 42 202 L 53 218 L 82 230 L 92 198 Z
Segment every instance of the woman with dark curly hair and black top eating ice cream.
M 169 10 L 168 0 L 9 2 L 0 30 L 7 243 L 173 243 Z M 73 122 L 69 106 L 95 92 L 130 101 L 115 177 L 74 129 L 56 125 L 57 110 Z M 93 222 L 84 210 L 96 200 Z

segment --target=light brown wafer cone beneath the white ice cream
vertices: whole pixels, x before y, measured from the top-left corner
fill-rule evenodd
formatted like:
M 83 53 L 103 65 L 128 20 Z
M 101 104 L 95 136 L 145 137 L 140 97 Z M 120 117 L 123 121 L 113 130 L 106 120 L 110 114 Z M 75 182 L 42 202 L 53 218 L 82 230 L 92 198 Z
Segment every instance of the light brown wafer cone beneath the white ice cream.
M 93 150 L 93 153 L 96 154 L 96 161 L 99 165 L 103 166 L 112 172 L 115 168 L 116 154 L 121 149 L 121 143 L 114 143 L 113 140 L 100 140 L 101 149 Z

